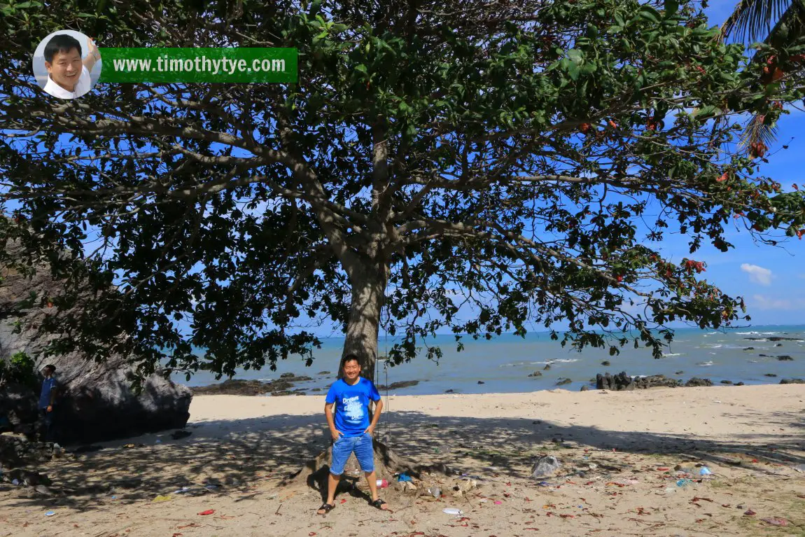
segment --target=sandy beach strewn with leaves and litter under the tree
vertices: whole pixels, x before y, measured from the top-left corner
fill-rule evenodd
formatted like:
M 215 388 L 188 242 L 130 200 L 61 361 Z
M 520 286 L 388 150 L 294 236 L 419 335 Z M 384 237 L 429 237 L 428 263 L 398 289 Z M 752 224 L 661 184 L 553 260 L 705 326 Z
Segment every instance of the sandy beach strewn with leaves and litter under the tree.
M 55 459 L 38 469 L 52 495 L 0 485 L 0 535 L 805 532 L 803 385 L 392 396 L 378 436 L 419 464 L 448 465 L 452 477 L 423 477 L 443 496 L 392 484 L 386 513 L 355 490 L 326 517 L 316 490 L 280 485 L 328 447 L 323 406 L 323 396 L 197 396 L 190 436 Z M 530 479 L 543 454 L 563 468 Z M 477 486 L 452 490 L 470 480 Z

